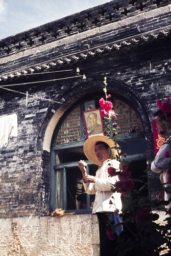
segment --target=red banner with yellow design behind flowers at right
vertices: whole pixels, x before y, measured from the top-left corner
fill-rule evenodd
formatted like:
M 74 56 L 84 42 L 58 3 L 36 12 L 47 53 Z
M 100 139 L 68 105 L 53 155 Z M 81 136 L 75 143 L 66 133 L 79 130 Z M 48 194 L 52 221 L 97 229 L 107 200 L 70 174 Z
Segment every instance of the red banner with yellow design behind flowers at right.
M 159 135 L 157 132 L 156 119 L 153 120 L 153 138 L 154 138 L 154 152 L 156 156 L 157 152 L 159 151 L 159 148 L 166 141 L 166 137 L 165 136 L 161 137 L 161 135 Z

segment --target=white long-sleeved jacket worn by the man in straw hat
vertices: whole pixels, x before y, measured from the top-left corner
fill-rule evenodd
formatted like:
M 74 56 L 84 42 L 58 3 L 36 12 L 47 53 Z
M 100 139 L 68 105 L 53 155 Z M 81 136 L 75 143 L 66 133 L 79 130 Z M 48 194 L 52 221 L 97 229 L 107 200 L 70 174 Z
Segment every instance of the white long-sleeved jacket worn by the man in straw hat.
M 111 191 L 111 185 L 118 181 L 118 176 L 109 177 L 107 172 L 109 163 L 111 163 L 112 167 L 119 168 L 117 160 L 105 160 L 103 165 L 96 171 L 95 183 L 83 182 L 86 193 L 95 194 L 92 214 L 95 214 L 95 212 L 114 211 L 115 209 L 121 210 L 120 193 L 112 193 Z M 113 204 L 109 204 L 110 200 Z

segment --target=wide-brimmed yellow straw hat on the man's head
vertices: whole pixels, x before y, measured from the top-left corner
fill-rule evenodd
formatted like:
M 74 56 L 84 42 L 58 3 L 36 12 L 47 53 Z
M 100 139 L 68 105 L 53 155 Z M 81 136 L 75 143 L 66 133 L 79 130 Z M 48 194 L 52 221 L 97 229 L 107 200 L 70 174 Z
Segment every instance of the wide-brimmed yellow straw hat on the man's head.
M 85 141 L 83 149 L 84 149 L 84 154 L 86 155 L 88 160 L 90 160 L 92 163 L 95 163 L 96 165 L 101 166 L 102 163 L 97 159 L 94 151 L 95 144 L 99 141 L 105 142 L 106 144 L 109 145 L 109 147 L 113 147 L 115 145 L 114 141 L 107 136 L 94 135 Z M 111 148 L 111 155 L 115 157 L 116 154 L 117 154 L 117 150 L 115 150 L 114 148 Z

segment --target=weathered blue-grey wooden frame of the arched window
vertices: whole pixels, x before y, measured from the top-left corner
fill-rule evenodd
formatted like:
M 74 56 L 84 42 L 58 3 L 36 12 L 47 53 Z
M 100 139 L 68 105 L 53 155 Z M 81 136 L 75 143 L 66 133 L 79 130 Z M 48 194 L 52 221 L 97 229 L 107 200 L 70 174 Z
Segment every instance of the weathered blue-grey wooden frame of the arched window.
M 119 99 L 119 98 L 118 98 Z M 120 101 L 122 101 L 121 99 L 119 99 Z M 87 99 L 84 100 L 85 102 L 87 101 Z M 84 101 L 80 101 L 78 102 L 78 104 L 75 104 L 74 106 L 72 106 L 70 108 L 70 110 L 66 111 L 65 114 L 61 117 L 61 119 L 59 120 L 56 129 L 54 131 L 54 135 L 53 135 L 53 139 L 52 139 L 52 143 L 51 143 L 51 195 L 50 195 L 50 213 L 53 212 L 56 208 L 55 208 L 55 172 L 56 170 L 59 170 L 61 168 L 68 168 L 69 166 L 78 166 L 78 161 L 77 162 L 65 162 L 65 163 L 59 163 L 56 164 L 56 154 L 57 153 L 61 153 L 61 152 L 66 152 L 69 151 L 70 153 L 75 152 L 76 150 L 79 150 L 80 152 L 83 153 L 83 146 L 84 146 L 84 142 L 85 142 L 85 138 L 84 138 L 84 120 L 83 120 L 83 111 L 84 111 Z M 126 104 L 128 104 L 127 100 L 124 101 Z M 56 139 L 58 136 L 58 133 L 60 131 L 60 127 L 63 123 L 63 121 L 67 118 L 67 116 L 78 106 L 80 105 L 80 118 L 81 118 L 81 123 L 80 123 L 80 141 L 78 142 L 73 142 L 73 143 L 65 143 L 65 144 L 56 144 Z M 132 104 L 128 104 L 130 106 L 130 108 L 133 108 Z M 137 112 L 136 110 L 134 110 L 135 112 Z M 136 113 L 137 114 L 137 113 Z M 138 114 L 137 114 L 138 115 Z M 139 116 L 139 115 L 138 115 Z M 140 117 L 139 117 L 140 119 Z M 109 135 L 107 135 L 109 136 Z M 131 141 L 135 141 L 135 140 L 143 140 L 142 143 L 145 143 L 145 138 L 144 138 L 144 131 L 143 132 L 136 132 L 136 133 L 130 133 L 130 134 L 123 134 L 123 135 L 118 135 L 118 139 L 121 141 L 125 141 L 125 143 L 131 143 Z M 124 152 L 125 153 L 125 152 Z M 127 161 L 138 161 L 138 160 L 146 160 L 146 154 L 145 151 L 143 153 L 140 154 L 133 154 L 133 155 L 127 155 L 126 157 Z M 90 161 L 87 161 L 88 166 L 92 166 L 94 164 L 92 164 Z M 98 167 L 96 166 L 96 169 Z M 66 185 L 66 183 L 64 184 Z M 64 188 L 64 190 L 66 191 L 66 187 Z M 65 195 L 66 197 L 66 195 Z M 87 196 L 88 197 L 88 196 Z M 64 206 L 66 202 L 66 198 L 64 199 Z M 76 210 L 66 210 L 65 212 L 73 212 L 75 214 L 91 214 L 92 209 L 76 209 Z

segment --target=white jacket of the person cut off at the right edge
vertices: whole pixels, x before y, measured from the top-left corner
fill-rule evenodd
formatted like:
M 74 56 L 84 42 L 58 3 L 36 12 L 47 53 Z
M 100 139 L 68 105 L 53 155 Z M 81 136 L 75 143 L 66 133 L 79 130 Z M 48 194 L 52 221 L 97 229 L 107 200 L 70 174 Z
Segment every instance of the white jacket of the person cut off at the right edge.
M 167 169 L 168 169 L 168 165 L 171 162 L 171 158 L 170 157 L 165 157 L 165 153 L 169 150 L 169 145 L 167 144 L 168 139 L 166 140 L 166 143 L 164 143 L 159 151 L 156 154 L 156 157 L 154 159 L 154 161 L 151 164 L 151 170 L 154 173 L 160 174 L 163 173 L 163 181 L 164 183 L 168 182 L 168 175 L 167 175 Z M 165 184 L 165 187 L 167 186 L 171 186 L 171 184 Z M 166 194 L 164 193 L 164 200 L 167 201 L 168 198 L 171 197 L 171 194 Z M 171 203 L 169 203 L 169 205 L 165 206 L 166 208 L 171 207 Z

